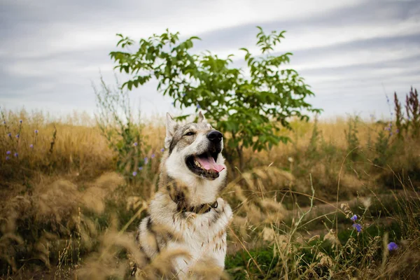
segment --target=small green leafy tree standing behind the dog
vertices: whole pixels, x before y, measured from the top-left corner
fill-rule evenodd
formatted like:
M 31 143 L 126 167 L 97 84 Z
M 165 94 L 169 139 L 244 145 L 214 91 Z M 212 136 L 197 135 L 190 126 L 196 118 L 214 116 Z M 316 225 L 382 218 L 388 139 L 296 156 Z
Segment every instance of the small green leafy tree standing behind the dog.
M 144 85 L 152 78 L 158 80 L 158 91 L 174 98 L 174 106 L 181 109 L 195 106 L 205 111 L 209 120 L 217 122 L 218 130 L 228 134 L 226 158 L 232 165 L 235 153 L 239 168 L 244 168 L 244 148 L 254 151 L 272 148 L 288 137 L 279 135 L 281 125 L 290 129 L 288 118 L 308 120 L 307 113 L 320 112 L 305 98 L 314 95 L 309 86 L 293 69 L 283 67 L 290 61 L 290 52 L 272 55 L 270 51 L 284 38 L 285 31 L 266 35 L 260 27 L 257 45 L 261 55 L 251 55 L 246 48 L 246 68 L 232 66 L 233 55 L 223 59 L 211 52 L 194 54 L 193 41 L 179 40 L 179 33 L 168 30 L 161 35 L 141 38 L 135 52 L 132 39 L 117 34 L 117 46 L 127 52 L 111 52 L 116 69 L 130 74 L 123 84 Z M 305 110 L 306 113 L 302 111 Z M 186 116 L 183 116 L 186 117 Z

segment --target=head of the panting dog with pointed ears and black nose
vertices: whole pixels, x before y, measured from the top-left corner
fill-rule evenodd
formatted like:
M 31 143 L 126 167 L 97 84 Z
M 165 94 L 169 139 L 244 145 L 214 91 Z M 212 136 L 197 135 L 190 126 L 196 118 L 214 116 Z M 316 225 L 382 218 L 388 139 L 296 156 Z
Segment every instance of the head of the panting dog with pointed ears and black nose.
M 223 135 L 206 122 L 201 112 L 197 123 L 182 126 L 167 113 L 165 148 L 169 151 L 167 172 L 175 179 L 186 183 L 225 179 Z

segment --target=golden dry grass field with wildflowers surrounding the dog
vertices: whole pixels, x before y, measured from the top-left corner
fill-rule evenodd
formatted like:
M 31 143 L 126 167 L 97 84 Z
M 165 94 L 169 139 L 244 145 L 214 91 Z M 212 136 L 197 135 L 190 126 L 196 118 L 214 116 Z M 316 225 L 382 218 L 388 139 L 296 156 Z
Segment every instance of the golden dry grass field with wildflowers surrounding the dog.
M 3 279 L 127 278 L 164 153 L 156 119 L 97 125 L 84 114 L 3 111 Z M 222 195 L 235 212 L 222 276 L 419 279 L 418 124 L 418 115 L 296 120 L 281 131 L 288 144 L 246 150 Z M 146 271 L 165 271 L 168 258 Z

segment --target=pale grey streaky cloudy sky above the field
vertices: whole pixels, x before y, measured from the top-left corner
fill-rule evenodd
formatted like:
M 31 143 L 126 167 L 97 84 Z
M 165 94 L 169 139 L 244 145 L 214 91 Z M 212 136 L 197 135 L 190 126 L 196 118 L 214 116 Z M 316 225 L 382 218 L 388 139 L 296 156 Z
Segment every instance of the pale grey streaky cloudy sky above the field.
M 93 113 L 99 71 L 113 83 L 116 33 L 139 39 L 169 28 L 200 36 L 197 51 L 240 59 L 241 47 L 256 52 L 257 25 L 287 31 L 276 51 L 293 52 L 290 66 L 324 117 L 388 117 L 385 94 L 420 87 L 419 0 L 2 0 L 0 105 Z M 134 90 L 133 104 L 148 116 L 176 113 L 155 86 Z

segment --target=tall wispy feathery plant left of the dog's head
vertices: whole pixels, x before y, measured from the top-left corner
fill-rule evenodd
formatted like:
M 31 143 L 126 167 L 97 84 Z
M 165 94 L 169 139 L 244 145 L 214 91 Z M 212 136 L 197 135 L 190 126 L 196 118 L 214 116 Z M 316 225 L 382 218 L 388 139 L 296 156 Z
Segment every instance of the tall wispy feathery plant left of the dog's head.
M 97 97 L 97 125 L 110 148 L 117 153 L 117 171 L 130 176 L 147 163 L 143 155 L 148 153 L 150 146 L 144 144 L 141 125 L 134 123 L 127 91 L 119 85 L 117 89 L 112 89 L 101 78 L 100 90 L 94 88 L 94 92 Z

